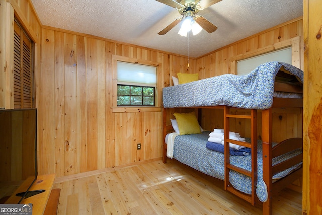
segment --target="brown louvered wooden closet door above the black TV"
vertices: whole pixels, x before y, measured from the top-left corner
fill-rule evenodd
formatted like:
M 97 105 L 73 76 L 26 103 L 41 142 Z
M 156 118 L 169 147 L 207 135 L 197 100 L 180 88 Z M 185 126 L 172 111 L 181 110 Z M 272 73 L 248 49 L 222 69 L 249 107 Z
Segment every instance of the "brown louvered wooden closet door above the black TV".
M 14 108 L 33 107 L 32 42 L 15 21 Z

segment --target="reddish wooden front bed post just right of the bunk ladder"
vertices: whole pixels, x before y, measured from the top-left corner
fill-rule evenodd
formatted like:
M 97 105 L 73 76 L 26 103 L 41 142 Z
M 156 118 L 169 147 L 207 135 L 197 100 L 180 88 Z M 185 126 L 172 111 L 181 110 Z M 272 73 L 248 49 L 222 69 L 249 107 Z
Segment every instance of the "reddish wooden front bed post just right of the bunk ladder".
M 262 110 L 263 180 L 267 186 L 267 201 L 263 214 L 272 214 L 272 109 Z

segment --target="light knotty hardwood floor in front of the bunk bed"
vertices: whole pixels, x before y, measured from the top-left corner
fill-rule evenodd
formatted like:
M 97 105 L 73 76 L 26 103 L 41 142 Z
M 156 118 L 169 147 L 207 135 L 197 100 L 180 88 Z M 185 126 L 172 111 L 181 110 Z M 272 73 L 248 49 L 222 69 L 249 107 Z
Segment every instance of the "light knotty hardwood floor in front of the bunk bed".
M 157 160 L 58 182 L 58 214 L 261 214 L 219 179 L 176 160 Z M 302 194 L 284 189 L 273 214 L 301 214 Z

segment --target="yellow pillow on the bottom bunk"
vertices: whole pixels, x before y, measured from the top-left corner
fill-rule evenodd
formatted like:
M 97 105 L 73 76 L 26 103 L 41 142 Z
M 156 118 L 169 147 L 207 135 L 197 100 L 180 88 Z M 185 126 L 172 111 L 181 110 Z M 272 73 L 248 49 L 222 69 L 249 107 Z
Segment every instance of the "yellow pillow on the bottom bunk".
M 176 117 L 180 135 L 201 133 L 195 112 L 173 115 Z

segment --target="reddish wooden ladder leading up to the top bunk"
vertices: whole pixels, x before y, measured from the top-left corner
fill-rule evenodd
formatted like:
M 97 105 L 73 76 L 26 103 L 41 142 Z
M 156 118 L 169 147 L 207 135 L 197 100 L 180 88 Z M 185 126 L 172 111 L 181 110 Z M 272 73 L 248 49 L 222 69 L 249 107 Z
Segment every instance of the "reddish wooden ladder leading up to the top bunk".
M 229 106 L 225 106 L 224 108 L 224 132 L 225 132 L 225 190 L 235 194 L 236 196 L 250 202 L 252 205 L 255 204 L 256 200 L 256 185 L 257 185 L 257 110 L 250 110 L 250 115 L 237 115 L 230 114 Z M 246 111 L 249 113 L 249 111 Z M 250 119 L 251 121 L 251 142 L 241 142 L 233 139 L 229 139 L 229 131 L 230 125 L 229 121 L 231 118 L 239 118 L 239 119 Z M 245 146 L 251 148 L 251 158 L 252 158 L 252 170 L 245 170 L 243 168 L 239 168 L 235 165 L 230 164 L 230 153 L 229 153 L 229 142 L 233 144 L 237 144 L 240 146 Z M 228 143 L 228 144 L 227 144 Z M 251 178 L 252 180 L 252 193 L 251 195 L 245 194 L 236 190 L 230 183 L 229 172 L 237 171 L 241 174 L 244 174 Z

